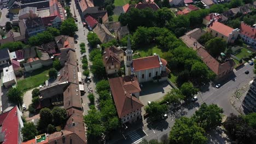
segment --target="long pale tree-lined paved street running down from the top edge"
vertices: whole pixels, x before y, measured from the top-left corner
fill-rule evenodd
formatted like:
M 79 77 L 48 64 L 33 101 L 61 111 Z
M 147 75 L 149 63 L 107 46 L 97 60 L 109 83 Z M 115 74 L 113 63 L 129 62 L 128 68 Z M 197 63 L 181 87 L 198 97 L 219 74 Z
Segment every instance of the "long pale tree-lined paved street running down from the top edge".
M 73 9 L 74 8 L 74 9 Z M 91 62 L 89 61 L 89 46 L 88 46 L 88 40 L 87 40 L 87 34 L 89 33 L 88 29 L 86 29 L 85 27 L 83 27 L 83 22 L 82 22 L 82 19 L 79 15 L 79 11 L 78 11 L 78 7 L 76 7 L 75 5 L 75 1 L 71 1 L 71 5 L 70 5 L 70 10 L 71 10 L 71 13 L 74 15 L 77 16 L 77 26 L 78 26 L 78 31 L 76 32 L 76 35 L 74 36 L 75 37 L 75 40 L 77 40 L 77 44 L 75 44 L 75 52 L 77 53 L 77 59 L 78 59 L 78 67 L 79 67 L 79 71 L 83 73 L 83 69 L 81 67 L 82 65 L 82 59 L 80 59 L 82 57 L 81 53 L 80 53 L 80 46 L 79 44 L 80 43 L 85 43 L 85 49 L 86 49 L 86 57 L 88 59 L 88 65 L 91 65 Z M 74 14 L 75 13 L 75 14 Z M 89 68 L 90 69 L 90 68 Z M 90 76 L 92 77 L 92 74 L 90 73 Z M 85 79 L 85 76 L 83 76 L 83 79 Z M 85 83 L 84 85 L 85 87 L 85 94 L 82 95 L 82 99 L 83 99 L 83 109 L 84 109 L 84 113 L 83 115 L 87 115 L 88 113 L 88 110 L 89 110 L 89 99 L 88 99 L 88 87 L 87 87 L 87 83 Z M 91 81 L 89 87 L 92 88 L 92 90 L 94 91 L 94 95 L 95 95 L 95 100 L 98 98 L 98 95 L 95 93 L 95 82 Z M 96 103 L 95 103 L 96 104 Z

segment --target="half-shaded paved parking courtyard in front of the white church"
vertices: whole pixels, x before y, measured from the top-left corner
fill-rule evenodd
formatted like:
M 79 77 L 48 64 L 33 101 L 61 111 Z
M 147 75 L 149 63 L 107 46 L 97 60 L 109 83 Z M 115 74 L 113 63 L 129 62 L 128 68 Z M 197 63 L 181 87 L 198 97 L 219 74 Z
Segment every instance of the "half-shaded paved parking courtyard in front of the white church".
M 151 81 L 142 83 L 142 85 L 143 88 L 141 88 L 141 92 L 139 93 L 139 100 L 144 106 L 148 105 L 148 101 L 156 101 L 161 99 L 167 92 L 170 92 L 172 89 L 167 81 Z M 145 111 L 142 109 L 142 115 L 144 115 L 144 113 Z

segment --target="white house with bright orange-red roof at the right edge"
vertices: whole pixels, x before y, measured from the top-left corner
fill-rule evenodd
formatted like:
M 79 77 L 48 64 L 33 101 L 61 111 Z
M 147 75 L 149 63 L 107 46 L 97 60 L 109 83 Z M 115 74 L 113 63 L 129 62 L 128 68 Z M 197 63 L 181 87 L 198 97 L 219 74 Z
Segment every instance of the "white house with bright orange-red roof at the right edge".
M 246 44 L 256 48 L 256 26 L 254 27 L 247 25 L 245 22 L 241 22 L 240 26 L 240 37 Z

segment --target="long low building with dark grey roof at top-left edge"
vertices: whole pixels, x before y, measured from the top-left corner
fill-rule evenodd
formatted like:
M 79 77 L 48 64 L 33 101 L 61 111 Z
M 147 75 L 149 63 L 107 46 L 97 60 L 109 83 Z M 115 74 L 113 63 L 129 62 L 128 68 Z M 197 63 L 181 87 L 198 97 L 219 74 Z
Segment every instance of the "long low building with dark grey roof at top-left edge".
M 38 1 L 38 2 L 30 2 L 30 3 L 21 3 L 20 7 L 22 9 L 26 8 L 26 7 L 36 7 L 37 10 L 49 9 L 49 0 Z

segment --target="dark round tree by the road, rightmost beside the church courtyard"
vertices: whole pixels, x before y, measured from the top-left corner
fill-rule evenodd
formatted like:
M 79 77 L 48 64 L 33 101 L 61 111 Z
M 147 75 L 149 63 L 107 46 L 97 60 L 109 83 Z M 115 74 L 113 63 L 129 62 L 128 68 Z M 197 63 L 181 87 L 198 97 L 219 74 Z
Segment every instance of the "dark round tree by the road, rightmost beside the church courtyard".
M 179 89 L 187 99 L 192 98 L 199 91 L 199 89 L 195 88 L 191 82 L 183 83 Z

